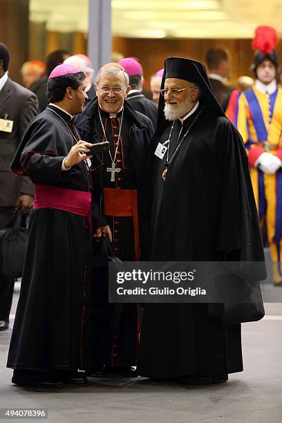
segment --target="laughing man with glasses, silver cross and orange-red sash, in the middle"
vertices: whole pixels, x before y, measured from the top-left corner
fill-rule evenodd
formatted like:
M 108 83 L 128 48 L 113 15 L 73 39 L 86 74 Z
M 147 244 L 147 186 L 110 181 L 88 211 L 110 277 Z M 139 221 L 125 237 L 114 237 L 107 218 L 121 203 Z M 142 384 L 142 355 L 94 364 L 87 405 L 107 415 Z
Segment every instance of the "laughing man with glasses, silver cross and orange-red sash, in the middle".
M 96 77 L 97 98 L 77 117 L 77 129 L 88 142 L 108 141 L 110 151 L 91 160 L 93 231 L 111 229 L 113 254 L 122 261 L 144 259 L 149 232 L 149 142 L 153 124 L 125 100 L 129 79 L 120 64 L 102 66 Z M 113 168 L 114 166 L 114 168 Z M 115 171 L 111 171 L 115 169 Z M 108 229 L 108 230 L 109 230 Z M 100 243 L 94 238 L 94 259 Z M 132 376 L 140 337 L 137 304 L 108 299 L 108 273 L 95 266 L 93 274 L 93 344 L 95 373 Z M 94 369 L 93 369 L 94 370 Z

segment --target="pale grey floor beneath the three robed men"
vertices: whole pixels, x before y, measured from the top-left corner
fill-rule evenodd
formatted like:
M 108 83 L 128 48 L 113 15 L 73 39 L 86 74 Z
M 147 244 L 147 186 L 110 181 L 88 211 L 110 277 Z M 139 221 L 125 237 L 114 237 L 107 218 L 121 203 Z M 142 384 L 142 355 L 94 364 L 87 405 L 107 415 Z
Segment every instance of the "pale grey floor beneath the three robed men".
M 17 294 L 12 317 L 16 302 Z M 36 422 L 281 423 L 282 304 L 267 303 L 265 310 L 263 320 L 243 324 L 243 373 L 214 386 L 91 378 L 81 388 L 19 388 L 5 367 L 11 330 L 0 332 L 0 408 L 47 409 L 48 420 Z

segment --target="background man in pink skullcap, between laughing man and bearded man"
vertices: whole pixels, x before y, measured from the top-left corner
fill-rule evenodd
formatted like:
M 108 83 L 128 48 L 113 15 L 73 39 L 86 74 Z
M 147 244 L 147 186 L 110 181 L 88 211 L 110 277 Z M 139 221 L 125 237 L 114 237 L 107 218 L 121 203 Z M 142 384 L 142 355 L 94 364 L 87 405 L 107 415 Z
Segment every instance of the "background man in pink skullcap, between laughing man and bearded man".
M 126 73 L 129 75 L 131 90 L 126 97 L 126 101 L 129 102 L 135 111 L 139 111 L 147 116 L 147 118 L 151 119 L 153 122 L 153 129 L 156 131 L 158 106 L 156 103 L 152 102 L 152 100 L 146 98 L 142 93 L 142 66 L 137 60 L 133 59 L 133 57 L 126 57 L 125 59 L 121 59 L 118 63 L 124 67 Z

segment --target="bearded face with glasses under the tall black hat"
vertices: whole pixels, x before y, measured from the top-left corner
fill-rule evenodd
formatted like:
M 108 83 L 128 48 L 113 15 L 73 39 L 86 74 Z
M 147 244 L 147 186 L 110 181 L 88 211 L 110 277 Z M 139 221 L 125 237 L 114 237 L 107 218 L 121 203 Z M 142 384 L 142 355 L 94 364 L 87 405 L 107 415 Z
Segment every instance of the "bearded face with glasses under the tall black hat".
M 167 78 L 164 82 L 164 88 L 168 90 L 188 88 L 177 94 L 171 93 L 171 91 L 164 94 L 164 115 L 167 120 L 183 118 L 195 106 L 199 89 L 192 82 L 187 82 L 184 79 Z

